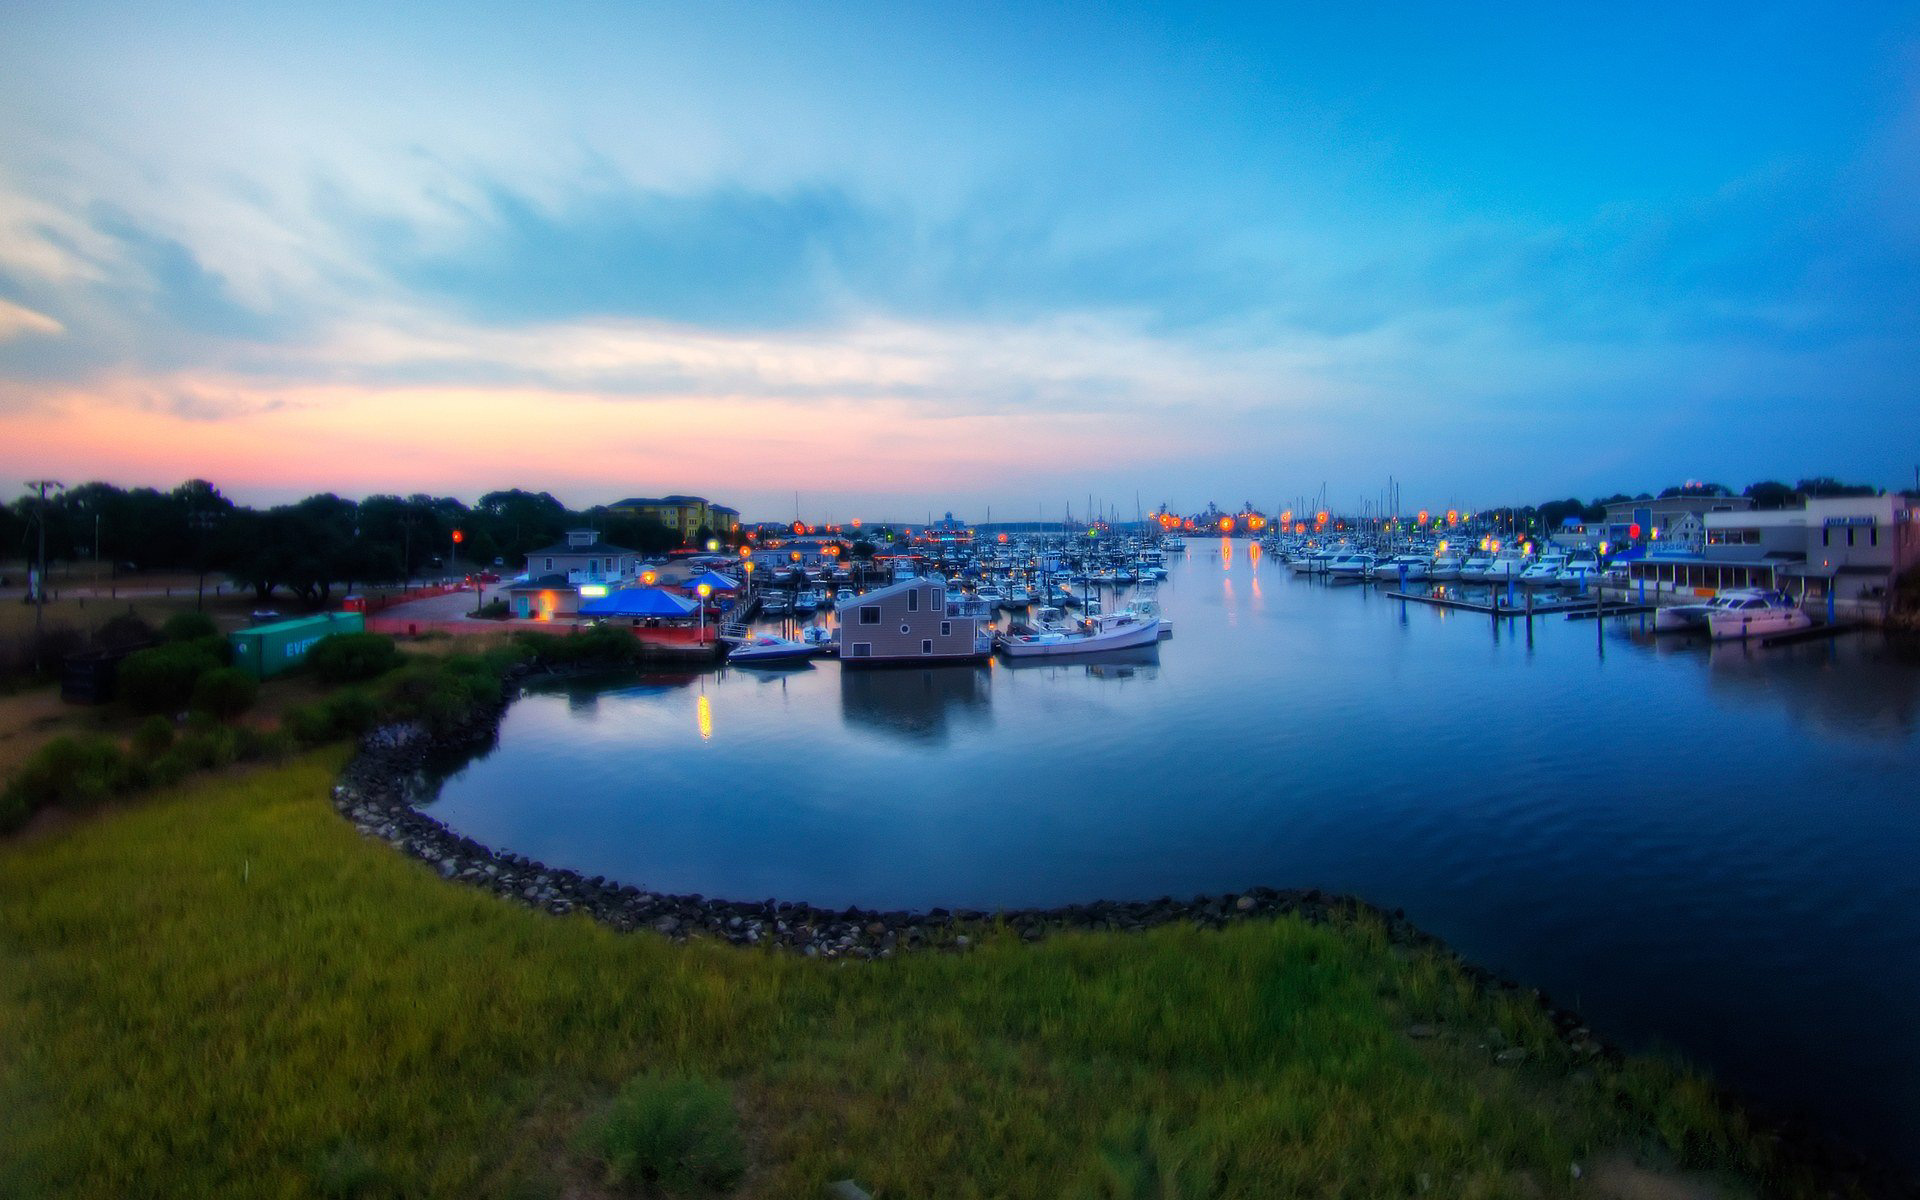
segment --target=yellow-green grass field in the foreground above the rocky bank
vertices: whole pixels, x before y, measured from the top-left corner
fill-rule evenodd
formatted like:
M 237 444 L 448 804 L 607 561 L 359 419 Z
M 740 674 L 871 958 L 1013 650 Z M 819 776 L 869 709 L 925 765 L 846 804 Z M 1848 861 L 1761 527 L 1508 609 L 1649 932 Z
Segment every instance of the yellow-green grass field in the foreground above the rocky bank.
M 0 843 L 0 1194 L 593 1194 L 578 1131 L 639 1071 L 733 1096 L 751 1196 L 1553 1196 L 1622 1148 L 1759 1179 L 1697 1079 L 1574 1071 L 1538 1012 L 1373 924 L 674 945 L 361 839 L 340 764 Z

